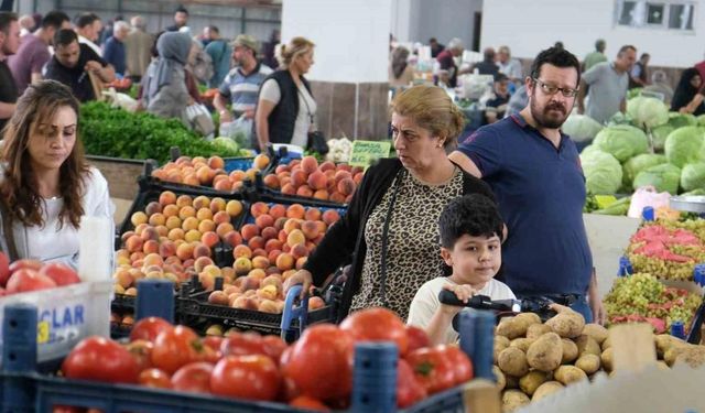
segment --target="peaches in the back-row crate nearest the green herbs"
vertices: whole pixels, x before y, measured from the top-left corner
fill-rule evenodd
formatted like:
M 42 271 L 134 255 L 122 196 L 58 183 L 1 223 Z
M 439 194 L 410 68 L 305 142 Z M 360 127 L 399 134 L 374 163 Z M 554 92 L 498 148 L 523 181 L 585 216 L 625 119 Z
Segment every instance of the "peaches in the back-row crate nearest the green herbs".
M 181 156 L 176 161 L 167 162 L 154 170 L 152 176 L 166 182 L 178 184 L 208 186 L 217 191 L 230 192 L 239 189 L 245 180 L 254 181 L 254 175 L 261 173 L 269 165 L 269 156 L 259 154 L 252 161 L 252 167 L 247 171 L 225 171 L 225 160 L 220 156 Z

